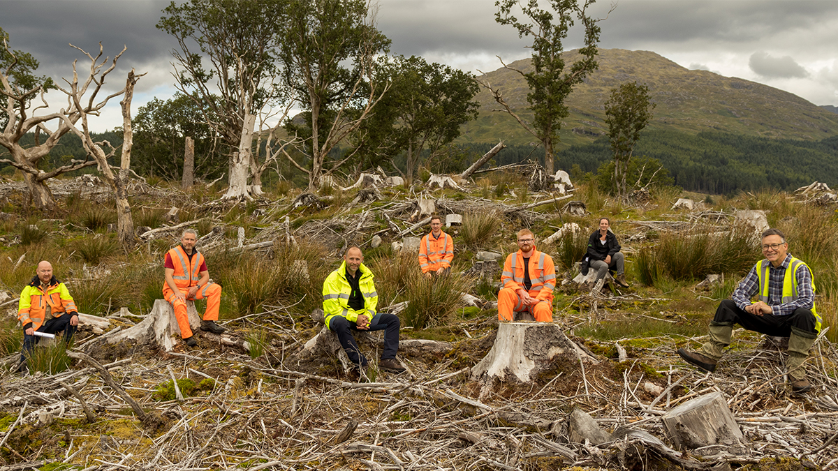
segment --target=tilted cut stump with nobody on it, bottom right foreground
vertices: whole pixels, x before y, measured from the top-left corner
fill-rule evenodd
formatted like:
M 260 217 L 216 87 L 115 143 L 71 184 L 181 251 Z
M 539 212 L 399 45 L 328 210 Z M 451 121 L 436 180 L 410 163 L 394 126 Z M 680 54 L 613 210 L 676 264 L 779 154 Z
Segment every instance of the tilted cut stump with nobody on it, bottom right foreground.
M 681 450 L 745 442 L 721 392 L 686 401 L 667 412 L 661 420 L 670 440 Z

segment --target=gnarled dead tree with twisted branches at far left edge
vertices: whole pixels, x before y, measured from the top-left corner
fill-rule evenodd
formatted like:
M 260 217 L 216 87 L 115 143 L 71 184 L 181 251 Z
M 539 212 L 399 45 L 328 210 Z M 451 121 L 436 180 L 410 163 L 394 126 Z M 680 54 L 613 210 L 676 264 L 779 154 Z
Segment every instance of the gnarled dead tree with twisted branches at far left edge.
M 55 199 L 46 185 L 47 180 L 61 173 L 96 165 L 96 161 L 70 160 L 70 163 L 44 172 L 39 168 L 41 159 L 58 145 L 59 139 L 79 121 L 82 113 L 98 114 L 111 97 L 96 102 L 102 82 L 94 81 L 94 77 L 91 75 L 80 87 L 82 94 L 89 92 L 89 96 L 85 99 L 85 106 L 69 106 L 61 111 L 38 116 L 39 111 L 45 111 L 49 108 L 45 93 L 54 86 L 52 80 L 41 80 L 29 73 L 28 69 L 31 68 L 31 65 L 26 65 L 26 61 L 22 59 L 34 61 L 31 56 L 20 51 L 13 51 L 6 41 L 3 41 L 3 47 L 11 61 L 7 67 L 0 70 L 0 84 L 2 84 L 0 86 L 0 96 L 6 101 L 3 111 L 6 115 L 4 117 L 8 118 L 6 126 L 0 132 L 0 146 L 8 149 L 12 158 L 0 159 L 0 163 L 8 163 L 23 173 L 23 181 L 26 183 L 29 196 L 37 208 L 52 210 L 55 207 Z M 37 61 L 34 62 L 34 67 L 37 67 Z M 19 80 L 21 77 L 24 80 Z M 24 83 L 34 83 L 35 85 L 25 85 L 27 88 L 23 88 Z M 34 133 L 35 143 L 33 146 L 23 148 L 21 141 L 29 132 Z M 43 142 L 39 138 L 42 134 L 45 136 Z

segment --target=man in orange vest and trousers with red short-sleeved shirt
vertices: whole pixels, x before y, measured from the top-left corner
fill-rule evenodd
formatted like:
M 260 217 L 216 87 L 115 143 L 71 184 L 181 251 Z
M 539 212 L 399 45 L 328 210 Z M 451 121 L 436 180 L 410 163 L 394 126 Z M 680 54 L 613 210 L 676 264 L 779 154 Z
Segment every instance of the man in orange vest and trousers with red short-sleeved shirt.
M 180 245 L 166 253 L 166 282 L 163 283 L 163 298 L 174 308 L 174 317 L 178 319 L 180 336 L 190 347 L 198 346 L 192 329 L 189 328 L 189 316 L 186 314 L 186 301 L 207 298 L 207 311 L 201 321 L 201 330 L 221 334 L 226 329 L 215 323 L 218 320 L 218 308 L 221 304 L 221 287 L 209 282 L 204 256 L 195 250 L 198 234 L 184 230 Z

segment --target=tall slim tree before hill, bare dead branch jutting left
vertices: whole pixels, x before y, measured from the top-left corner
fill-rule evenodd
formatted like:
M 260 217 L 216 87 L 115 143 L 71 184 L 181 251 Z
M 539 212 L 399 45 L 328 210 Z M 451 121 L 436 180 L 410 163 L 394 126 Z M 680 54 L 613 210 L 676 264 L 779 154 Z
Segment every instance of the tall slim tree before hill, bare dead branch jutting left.
M 515 121 L 541 142 L 544 148 L 544 165 L 547 173 L 554 173 L 553 148 L 559 141 L 561 120 L 570 114 L 565 106 L 565 99 L 577 85 L 585 79 L 588 73 L 597 69 L 596 57 L 599 42 L 599 20 L 587 14 L 595 0 L 498 0 L 495 6 L 498 13 L 495 21 L 509 24 L 518 30 L 518 36 L 532 37 L 532 68 L 530 72 L 518 70 L 504 64 L 504 68 L 523 75 L 530 85 L 527 101 L 533 111 L 533 121 L 527 122 L 519 116 L 512 107 L 504 101 L 500 89 L 492 88 L 487 80 L 480 80 L 481 85 L 488 88 L 494 100 L 503 106 Z M 548 4 L 549 9 L 539 5 Z M 519 13 L 523 16 L 520 16 Z M 519 19 L 521 18 L 521 19 Z M 567 33 L 578 20 L 585 28 L 584 47 L 578 49 L 579 58 L 566 68 L 562 56 Z M 503 61 L 501 61 L 503 63 Z

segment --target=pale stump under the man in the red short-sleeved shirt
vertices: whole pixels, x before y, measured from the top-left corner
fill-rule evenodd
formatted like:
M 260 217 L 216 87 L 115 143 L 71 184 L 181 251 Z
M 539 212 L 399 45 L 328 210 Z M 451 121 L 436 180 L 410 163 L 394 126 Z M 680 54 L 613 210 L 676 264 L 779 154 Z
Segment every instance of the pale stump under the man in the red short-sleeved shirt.
M 186 313 L 189 315 L 189 328 L 197 332 L 201 327 L 201 318 L 192 301 L 186 302 Z M 180 338 L 180 328 L 178 319 L 174 317 L 174 308 L 165 299 L 157 299 L 154 301 L 152 311 L 142 319 L 141 323 L 111 335 L 107 338 L 107 342 L 116 344 L 126 340 L 135 340 L 138 344 L 155 344 L 170 352 L 175 344 L 172 339 L 173 335 Z

